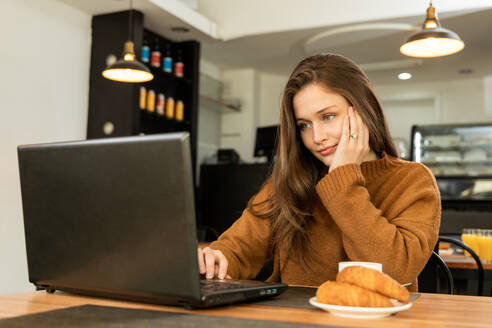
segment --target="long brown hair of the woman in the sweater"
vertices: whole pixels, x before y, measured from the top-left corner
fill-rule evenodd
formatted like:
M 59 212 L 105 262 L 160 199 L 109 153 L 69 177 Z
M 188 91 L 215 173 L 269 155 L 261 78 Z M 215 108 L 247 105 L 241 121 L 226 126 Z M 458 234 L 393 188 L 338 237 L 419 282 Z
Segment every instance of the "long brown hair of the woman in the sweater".
M 277 134 L 277 152 L 266 200 L 248 209 L 271 222 L 271 255 L 279 249 L 297 250 L 297 261 L 309 266 L 307 228 L 313 221 L 318 196 L 315 185 L 327 170 L 304 146 L 294 115 L 293 99 L 311 83 L 322 84 L 345 97 L 369 129 L 369 146 L 376 155 L 397 156 L 381 103 L 366 74 L 352 60 L 335 54 L 319 54 L 302 60 L 285 85 Z M 261 206 L 260 206 L 261 205 Z

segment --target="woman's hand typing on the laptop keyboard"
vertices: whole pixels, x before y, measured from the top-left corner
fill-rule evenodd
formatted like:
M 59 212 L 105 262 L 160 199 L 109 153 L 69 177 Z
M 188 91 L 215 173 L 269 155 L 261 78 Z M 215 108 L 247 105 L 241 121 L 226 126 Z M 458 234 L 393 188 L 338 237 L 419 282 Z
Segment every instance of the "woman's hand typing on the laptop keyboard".
M 231 279 L 227 274 L 228 265 L 229 263 L 221 251 L 210 247 L 198 248 L 198 269 L 200 274 L 205 275 L 207 279 Z

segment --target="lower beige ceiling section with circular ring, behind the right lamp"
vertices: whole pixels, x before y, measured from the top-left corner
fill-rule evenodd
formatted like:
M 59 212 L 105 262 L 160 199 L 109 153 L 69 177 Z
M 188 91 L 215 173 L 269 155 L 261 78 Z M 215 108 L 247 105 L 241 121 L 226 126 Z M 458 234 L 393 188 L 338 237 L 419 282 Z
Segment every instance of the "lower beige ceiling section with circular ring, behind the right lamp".
M 310 49 L 313 48 L 310 44 L 306 46 L 306 42 L 325 32 L 326 27 L 205 43 L 202 44 L 202 56 L 222 69 L 253 67 L 262 72 L 288 75 L 307 55 L 333 52 L 361 64 L 373 84 L 406 83 L 397 78 L 401 72 L 411 73 L 413 77 L 408 81 L 412 82 L 492 74 L 492 9 L 456 12 L 440 18 L 443 27 L 456 32 L 465 42 L 465 49 L 458 54 L 419 60 L 400 54 L 400 46 L 413 32 L 399 28 L 408 29 L 413 25 L 418 29 L 424 16 L 422 13 L 421 16 L 331 26 L 329 30 L 340 32 L 316 41 L 315 49 Z

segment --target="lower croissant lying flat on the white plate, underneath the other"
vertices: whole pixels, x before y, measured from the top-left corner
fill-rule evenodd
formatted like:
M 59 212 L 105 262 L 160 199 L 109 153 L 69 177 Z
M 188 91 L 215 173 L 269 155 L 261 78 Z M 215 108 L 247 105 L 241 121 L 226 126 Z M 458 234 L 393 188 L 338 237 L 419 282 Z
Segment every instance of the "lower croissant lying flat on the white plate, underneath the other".
M 326 281 L 318 287 L 316 300 L 321 303 L 361 306 L 392 307 L 393 303 L 384 295 L 345 282 Z

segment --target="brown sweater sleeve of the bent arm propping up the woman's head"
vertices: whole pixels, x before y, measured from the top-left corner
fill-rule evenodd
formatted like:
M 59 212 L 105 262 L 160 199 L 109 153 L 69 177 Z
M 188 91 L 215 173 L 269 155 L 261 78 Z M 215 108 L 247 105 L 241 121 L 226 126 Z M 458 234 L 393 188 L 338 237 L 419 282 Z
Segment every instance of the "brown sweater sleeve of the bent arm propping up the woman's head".
M 373 204 L 361 168 L 336 168 L 316 185 L 321 202 L 342 231 L 351 261 L 379 262 L 400 283 L 414 282 L 437 242 L 441 216 L 439 190 L 430 171 L 406 163 L 404 172 Z M 378 194 L 376 192 L 376 194 Z M 381 193 L 379 193 L 381 195 Z M 382 198 L 381 198 L 382 197 Z

